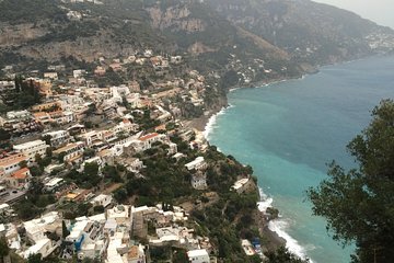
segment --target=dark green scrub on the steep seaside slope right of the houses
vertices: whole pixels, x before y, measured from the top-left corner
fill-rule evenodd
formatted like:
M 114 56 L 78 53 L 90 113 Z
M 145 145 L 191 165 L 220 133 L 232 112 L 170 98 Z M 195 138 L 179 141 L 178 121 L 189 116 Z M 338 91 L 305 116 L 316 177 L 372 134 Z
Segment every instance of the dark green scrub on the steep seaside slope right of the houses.
M 216 147 L 210 147 L 205 158 L 210 163 L 208 186 L 219 194 L 219 198 L 209 206 L 193 210 L 192 216 L 198 224 L 197 232 L 210 238 L 222 262 L 255 262 L 245 255 L 240 239 L 260 238 L 255 227 L 257 190 L 241 195 L 230 191 L 237 176 L 253 171 L 234 158 L 218 152 Z

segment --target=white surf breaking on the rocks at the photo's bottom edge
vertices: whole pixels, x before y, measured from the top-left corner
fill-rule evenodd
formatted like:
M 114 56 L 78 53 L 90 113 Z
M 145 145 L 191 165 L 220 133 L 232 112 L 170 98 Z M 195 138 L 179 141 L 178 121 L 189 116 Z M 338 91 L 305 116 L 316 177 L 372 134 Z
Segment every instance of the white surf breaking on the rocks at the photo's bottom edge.
M 289 228 L 289 221 L 285 219 L 275 219 L 269 221 L 268 228 L 269 230 L 276 232 L 279 237 L 286 240 L 286 247 L 294 253 L 296 255 L 300 256 L 301 259 L 306 259 L 306 249 L 303 248 L 296 239 L 293 239 L 286 230 Z M 313 263 L 312 260 L 310 260 Z

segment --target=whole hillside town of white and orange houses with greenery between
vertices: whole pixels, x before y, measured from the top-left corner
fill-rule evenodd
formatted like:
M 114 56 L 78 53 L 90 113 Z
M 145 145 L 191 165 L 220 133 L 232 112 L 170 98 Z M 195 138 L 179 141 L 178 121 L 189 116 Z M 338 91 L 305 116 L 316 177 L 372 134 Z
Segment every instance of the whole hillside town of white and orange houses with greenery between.
M 217 152 L 187 121 L 209 114 L 207 83 L 183 64 L 144 50 L 102 57 L 91 69 L 2 69 L 0 235 L 14 256 L 218 261 L 216 242 L 192 214 L 219 202 L 220 192 L 247 197 L 256 185 L 248 168 Z M 130 65 L 135 78 L 121 79 Z M 217 167 L 225 182 L 213 178 Z M 260 261 L 258 233 L 246 237 L 236 242 Z

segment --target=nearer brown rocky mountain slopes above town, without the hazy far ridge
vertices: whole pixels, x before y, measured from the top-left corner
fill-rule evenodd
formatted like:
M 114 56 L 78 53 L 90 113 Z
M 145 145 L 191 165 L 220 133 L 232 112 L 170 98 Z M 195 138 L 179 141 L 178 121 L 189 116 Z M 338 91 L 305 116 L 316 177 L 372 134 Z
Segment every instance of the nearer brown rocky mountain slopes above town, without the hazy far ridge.
M 190 55 L 190 65 L 205 72 L 224 75 L 253 66 L 244 77 L 250 80 L 302 72 L 287 52 L 230 23 L 202 1 L 2 0 L 0 9 L 5 10 L 0 20 L 2 65 L 16 61 L 39 69 L 70 58 L 92 62 L 152 48 Z M 258 72 L 263 67 L 270 76 Z

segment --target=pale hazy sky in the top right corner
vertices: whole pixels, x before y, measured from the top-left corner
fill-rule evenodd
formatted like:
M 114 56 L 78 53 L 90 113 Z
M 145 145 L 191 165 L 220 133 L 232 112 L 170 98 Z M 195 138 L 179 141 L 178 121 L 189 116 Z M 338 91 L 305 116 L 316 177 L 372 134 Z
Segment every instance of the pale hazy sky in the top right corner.
M 350 10 L 364 19 L 394 28 L 394 0 L 313 0 Z

